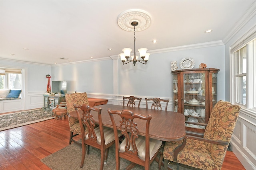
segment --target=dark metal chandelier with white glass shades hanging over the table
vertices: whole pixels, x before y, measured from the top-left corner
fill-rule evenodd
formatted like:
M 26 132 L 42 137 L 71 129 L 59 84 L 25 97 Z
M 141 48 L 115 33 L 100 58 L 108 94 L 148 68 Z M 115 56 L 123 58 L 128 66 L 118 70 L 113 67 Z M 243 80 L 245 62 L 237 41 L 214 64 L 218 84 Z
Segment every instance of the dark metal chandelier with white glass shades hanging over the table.
M 136 51 L 135 51 L 135 40 L 136 40 L 136 38 L 135 38 L 135 27 L 138 25 L 138 22 L 137 21 L 132 21 L 131 25 L 134 26 L 134 53 L 133 53 L 132 56 L 130 56 L 132 49 L 124 48 L 122 50 L 124 53 L 119 54 L 120 57 L 121 57 L 121 61 L 123 62 L 123 64 L 127 64 L 127 63 L 132 62 L 134 66 L 137 63 L 137 61 L 142 63 L 142 64 L 147 64 L 147 61 L 148 61 L 148 58 L 149 58 L 149 55 L 150 55 L 150 53 L 146 53 L 148 49 L 146 49 L 146 48 L 138 49 L 138 51 L 140 53 L 141 60 L 138 59 L 139 57 L 136 55 Z M 132 59 L 129 59 L 130 57 Z

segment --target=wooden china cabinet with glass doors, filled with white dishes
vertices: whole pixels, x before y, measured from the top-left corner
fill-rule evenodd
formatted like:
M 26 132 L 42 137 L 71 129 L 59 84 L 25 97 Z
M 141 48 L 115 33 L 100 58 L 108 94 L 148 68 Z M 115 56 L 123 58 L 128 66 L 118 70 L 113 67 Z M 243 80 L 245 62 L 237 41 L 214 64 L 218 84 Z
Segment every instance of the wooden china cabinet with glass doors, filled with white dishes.
M 185 115 L 186 133 L 202 136 L 217 102 L 217 68 L 172 71 L 172 110 Z

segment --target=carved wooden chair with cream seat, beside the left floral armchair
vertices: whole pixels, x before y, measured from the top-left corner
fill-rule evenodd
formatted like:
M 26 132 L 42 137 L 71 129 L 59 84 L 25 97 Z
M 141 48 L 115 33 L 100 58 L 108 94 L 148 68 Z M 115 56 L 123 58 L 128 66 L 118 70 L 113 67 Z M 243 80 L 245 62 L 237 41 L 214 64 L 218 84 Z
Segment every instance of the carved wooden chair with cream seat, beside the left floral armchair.
M 100 170 L 103 170 L 104 164 L 107 162 L 108 151 L 112 145 L 115 144 L 115 134 L 112 128 L 103 127 L 101 108 L 90 107 L 89 105 L 75 105 L 77 117 L 81 117 L 78 109 L 82 110 L 82 119 L 79 119 L 80 128 L 82 129 L 82 160 L 80 168 L 84 166 L 84 159 L 86 154 L 86 145 L 100 149 Z M 98 127 L 96 127 L 95 120 L 91 111 L 98 112 Z M 84 133 L 84 124 L 88 129 L 88 133 Z M 96 127 L 96 128 L 95 128 Z M 118 137 L 122 136 L 122 133 L 118 131 Z

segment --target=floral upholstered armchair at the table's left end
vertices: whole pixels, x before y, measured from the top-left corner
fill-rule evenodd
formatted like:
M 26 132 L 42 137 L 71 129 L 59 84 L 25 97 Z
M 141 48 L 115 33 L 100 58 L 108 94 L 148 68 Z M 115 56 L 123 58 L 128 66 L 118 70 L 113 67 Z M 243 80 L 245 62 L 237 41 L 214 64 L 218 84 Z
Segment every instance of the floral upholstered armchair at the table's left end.
M 65 94 L 66 98 L 66 107 L 68 113 L 71 111 L 75 111 L 74 104 L 76 105 L 82 105 L 82 104 L 87 104 L 89 105 L 87 94 L 84 93 L 73 93 L 73 94 Z M 73 139 L 73 137 L 77 135 L 82 135 L 79 120 L 73 117 L 68 116 L 68 123 L 70 127 L 70 139 L 69 139 L 69 145 L 71 142 L 77 143 L 81 145 L 81 143 L 78 143 Z M 85 128 L 86 133 L 88 133 L 87 128 Z

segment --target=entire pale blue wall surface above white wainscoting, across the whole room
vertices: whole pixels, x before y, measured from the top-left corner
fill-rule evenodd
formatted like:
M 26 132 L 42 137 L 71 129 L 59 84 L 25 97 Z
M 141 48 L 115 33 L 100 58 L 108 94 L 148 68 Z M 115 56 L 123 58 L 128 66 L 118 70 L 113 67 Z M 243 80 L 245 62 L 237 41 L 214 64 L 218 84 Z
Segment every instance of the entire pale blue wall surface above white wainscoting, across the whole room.
M 179 62 L 191 57 L 195 61 L 194 68 L 200 63 L 206 63 L 207 68 L 219 68 L 218 98 L 225 100 L 224 90 L 224 45 L 201 47 L 194 49 L 180 49 L 165 53 L 152 53 L 148 64 L 122 64 L 118 59 L 118 66 L 113 65 L 111 58 L 102 61 L 84 61 L 59 66 L 1 61 L 1 65 L 25 68 L 27 70 L 26 87 L 28 92 L 46 92 L 46 74 L 52 80 L 67 80 L 68 92 L 87 92 L 90 94 L 113 95 L 113 89 L 118 88 L 120 96 L 150 96 L 172 98 L 171 61 Z M 117 79 L 114 80 L 113 70 L 117 67 Z M 117 86 L 114 87 L 114 81 Z

